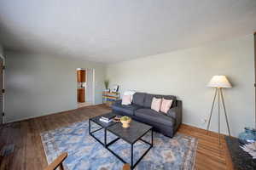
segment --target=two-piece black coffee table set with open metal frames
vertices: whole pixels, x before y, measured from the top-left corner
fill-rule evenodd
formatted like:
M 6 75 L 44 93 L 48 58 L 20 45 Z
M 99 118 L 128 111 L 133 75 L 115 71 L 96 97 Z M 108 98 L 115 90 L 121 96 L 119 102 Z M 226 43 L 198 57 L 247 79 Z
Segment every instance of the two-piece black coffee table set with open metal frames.
M 115 115 L 113 113 L 107 113 L 108 115 Z M 133 169 L 134 167 L 137 166 L 137 164 L 139 163 L 139 161 L 141 161 L 143 159 L 143 157 L 148 153 L 148 151 L 153 147 L 153 130 L 152 127 L 149 125 L 146 125 L 142 122 L 137 122 L 132 120 L 130 123 L 130 127 L 128 128 L 124 128 L 122 127 L 122 123 L 121 122 L 101 122 L 99 119 L 102 116 L 95 116 L 89 119 L 89 133 L 90 136 L 92 136 L 94 139 L 96 139 L 100 144 L 102 144 L 106 149 L 108 149 L 114 156 L 116 156 L 117 158 L 119 158 L 120 161 L 123 161 L 124 163 L 127 163 L 123 158 L 121 158 L 120 156 L 118 156 L 116 153 L 113 152 L 113 150 L 111 150 L 109 148 L 109 146 L 113 143 L 115 143 L 117 140 L 119 139 L 123 139 L 125 140 L 125 142 L 127 142 L 128 144 L 131 144 L 131 169 Z M 94 122 L 97 125 L 100 126 L 100 128 L 94 130 L 93 132 L 90 132 L 90 128 L 91 125 L 90 123 Z M 94 135 L 94 133 L 96 133 L 99 130 L 104 129 L 104 142 L 102 142 L 100 139 L 97 139 L 96 136 Z M 114 135 L 116 135 L 118 138 L 117 139 L 113 139 L 111 142 L 107 143 L 107 131 L 113 133 Z M 149 131 L 151 131 L 151 141 L 150 143 L 143 138 L 143 136 L 148 133 Z M 141 156 L 135 163 L 133 163 L 133 145 L 138 141 L 143 141 L 145 144 L 148 144 L 148 150 L 146 150 L 143 153 L 143 156 Z

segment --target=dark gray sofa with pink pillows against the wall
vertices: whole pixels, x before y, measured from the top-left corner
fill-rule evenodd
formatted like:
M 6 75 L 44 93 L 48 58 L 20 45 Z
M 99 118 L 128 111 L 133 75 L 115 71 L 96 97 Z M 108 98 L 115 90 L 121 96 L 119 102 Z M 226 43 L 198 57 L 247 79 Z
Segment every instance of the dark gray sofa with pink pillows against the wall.
M 166 113 L 151 110 L 153 98 L 172 99 L 172 107 Z M 122 105 L 122 100 L 112 105 L 113 112 L 120 116 L 130 116 L 138 122 L 144 122 L 154 127 L 155 131 L 171 137 L 182 123 L 182 101 L 172 95 L 136 93 L 131 105 Z

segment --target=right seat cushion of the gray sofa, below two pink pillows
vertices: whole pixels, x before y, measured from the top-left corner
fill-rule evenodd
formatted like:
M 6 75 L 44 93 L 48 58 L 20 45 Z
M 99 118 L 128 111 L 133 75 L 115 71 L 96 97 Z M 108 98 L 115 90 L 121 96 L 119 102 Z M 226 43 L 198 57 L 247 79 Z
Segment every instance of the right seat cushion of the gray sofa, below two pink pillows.
M 151 109 L 138 109 L 135 111 L 135 116 L 143 119 L 143 122 L 157 122 L 171 127 L 175 125 L 175 120 L 171 116 L 166 116 L 163 113 Z

